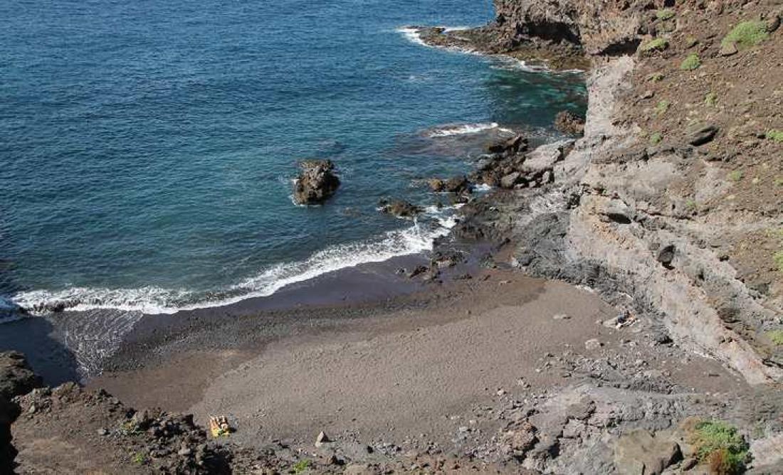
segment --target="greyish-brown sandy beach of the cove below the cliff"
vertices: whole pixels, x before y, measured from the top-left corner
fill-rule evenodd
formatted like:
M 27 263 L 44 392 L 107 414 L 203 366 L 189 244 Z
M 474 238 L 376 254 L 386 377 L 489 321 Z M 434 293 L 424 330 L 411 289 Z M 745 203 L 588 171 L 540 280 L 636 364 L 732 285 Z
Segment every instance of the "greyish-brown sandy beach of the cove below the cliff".
M 561 313 L 571 318 L 553 318 Z M 597 323 L 613 315 L 588 290 L 483 271 L 381 302 L 262 311 L 208 325 L 194 320 L 186 336 L 168 342 L 137 334 L 115 359 L 139 368 L 106 372 L 88 387 L 137 408 L 194 412 L 201 423 L 229 416 L 233 441 L 245 444 L 312 443 L 325 430 L 364 442 L 427 434 L 448 446 L 464 423 L 455 415 L 498 391 L 521 380 L 540 390 L 567 383 L 536 371 L 544 355 L 616 350 L 627 330 Z M 604 348 L 585 351 L 592 338 Z M 705 358 L 661 367 L 702 391 L 743 385 L 706 376 L 727 373 Z

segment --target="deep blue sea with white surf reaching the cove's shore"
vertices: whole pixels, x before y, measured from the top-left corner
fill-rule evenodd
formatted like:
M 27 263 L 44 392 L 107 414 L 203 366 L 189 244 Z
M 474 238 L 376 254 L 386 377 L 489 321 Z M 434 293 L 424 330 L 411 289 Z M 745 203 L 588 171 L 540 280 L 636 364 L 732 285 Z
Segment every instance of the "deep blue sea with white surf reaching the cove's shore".
M 443 200 L 421 179 L 584 106 L 579 75 L 399 31 L 492 16 L 489 0 L 0 2 L 0 294 L 172 311 L 428 249 L 449 211 L 414 225 L 378 200 Z M 307 157 L 341 172 L 323 207 L 290 199 Z

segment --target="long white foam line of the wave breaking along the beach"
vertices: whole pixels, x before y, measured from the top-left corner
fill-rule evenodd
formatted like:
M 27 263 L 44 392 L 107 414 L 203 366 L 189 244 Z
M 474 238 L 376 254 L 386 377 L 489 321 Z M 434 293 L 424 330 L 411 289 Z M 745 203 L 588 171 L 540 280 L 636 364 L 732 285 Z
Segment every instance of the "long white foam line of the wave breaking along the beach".
M 32 313 L 41 314 L 59 307 L 72 311 L 139 311 L 150 315 L 222 307 L 248 298 L 268 297 L 284 286 L 313 279 L 327 272 L 432 250 L 435 239 L 446 236 L 449 229 L 456 225 L 456 219 L 443 214 L 433 214 L 430 218 L 434 218 L 431 224 L 414 221 L 409 228 L 386 232 L 376 239 L 330 246 L 304 261 L 276 264 L 222 290 L 194 292 L 152 286 L 139 289 L 75 287 L 58 292 L 32 290 L 13 295 L 13 304 L 9 303 L 9 307 L 16 304 Z M 209 297 L 204 297 L 205 294 Z

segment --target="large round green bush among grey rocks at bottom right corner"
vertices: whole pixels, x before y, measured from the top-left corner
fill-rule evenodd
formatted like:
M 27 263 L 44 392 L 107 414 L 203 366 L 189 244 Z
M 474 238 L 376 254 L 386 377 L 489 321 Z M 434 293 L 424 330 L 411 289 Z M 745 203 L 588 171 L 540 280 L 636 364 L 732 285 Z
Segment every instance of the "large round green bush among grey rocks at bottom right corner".
M 712 473 L 742 473 L 749 445 L 736 427 L 722 420 L 702 421 L 691 435 L 696 457 L 709 462 Z

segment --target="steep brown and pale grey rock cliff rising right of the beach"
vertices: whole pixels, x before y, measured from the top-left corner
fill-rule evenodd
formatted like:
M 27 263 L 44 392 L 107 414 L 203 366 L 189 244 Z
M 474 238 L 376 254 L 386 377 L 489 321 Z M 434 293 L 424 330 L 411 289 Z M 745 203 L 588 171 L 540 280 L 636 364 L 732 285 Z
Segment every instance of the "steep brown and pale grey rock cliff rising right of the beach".
M 781 108 L 765 106 L 783 95 L 778 2 L 495 3 L 509 48 L 543 39 L 594 59 L 585 136 L 556 191 L 529 197 L 518 264 L 603 290 L 750 383 L 781 381 L 770 335 L 781 330 L 783 170 L 769 157 L 783 146 L 764 133 L 783 128 Z M 763 40 L 727 51 L 721 39 L 749 20 Z M 654 39 L 661 49 L 637 52 Z M 682 66 L 688 57 L 698 64 Z

